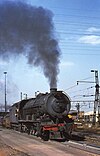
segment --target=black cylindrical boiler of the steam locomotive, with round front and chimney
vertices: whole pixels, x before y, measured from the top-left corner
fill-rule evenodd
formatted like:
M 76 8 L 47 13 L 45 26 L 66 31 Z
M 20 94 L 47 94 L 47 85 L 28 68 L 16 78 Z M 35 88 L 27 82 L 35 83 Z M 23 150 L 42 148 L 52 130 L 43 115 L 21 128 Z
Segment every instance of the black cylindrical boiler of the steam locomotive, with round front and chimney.
M 62 91 L 51 89 L 50 93 L 40 93 L 24 106 L 24 115 L 33 114 L 34 118 L 49 115 L 52 120 L 64 119 L 71 107 L 70 99 Z M 30 110 L 31 108 L 31 110 Z M 30 110 L 30 111 L 29 111 Z M 29 111 L 29 112 L 28 112 Z

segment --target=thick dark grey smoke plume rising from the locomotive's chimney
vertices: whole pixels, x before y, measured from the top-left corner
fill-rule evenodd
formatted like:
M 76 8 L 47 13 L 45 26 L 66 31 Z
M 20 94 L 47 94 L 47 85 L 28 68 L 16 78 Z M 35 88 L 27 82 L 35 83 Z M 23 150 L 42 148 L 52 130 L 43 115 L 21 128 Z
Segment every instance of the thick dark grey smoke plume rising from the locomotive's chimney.
M 52 18 L 50 10 L 25 2 L 0 3 L 0 56 L 9 60 L 23 54 L 43 69 L 50 87 L 57 87 L 60 51 Z

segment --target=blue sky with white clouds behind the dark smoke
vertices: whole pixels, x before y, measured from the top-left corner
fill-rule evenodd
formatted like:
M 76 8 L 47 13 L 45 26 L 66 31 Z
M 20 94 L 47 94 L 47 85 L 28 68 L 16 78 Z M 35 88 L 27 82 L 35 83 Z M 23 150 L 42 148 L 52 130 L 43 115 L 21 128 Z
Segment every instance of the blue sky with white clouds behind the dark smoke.
M 2 0 L 0 0 L 2 1 Z M 12 0 L 15 1 L 15 0 Z M 16 0 L 17 1 L 17 0 Z M 34 7 L 52 12 L 54 35 L 60 49 L 57 89 L 66 92 L 73 108 L 81 102 L 81 110 L 93 110 L 95 83 L 91 70 L 100 69 L 100 1 L 99 0 L 21 0 Z M 24 29 L 24 28 L 22 28 Z M 1 30 L 0 30 L 1 31 Z M 31 32 L 30 32 L 31 33 Z M 1 46 L 1 43 L 0 43 Z M 2 55 L 2 53 L 0 53 Z M 20 100 L 22 92 L 28 98 L 35 92 L 49 92 L 48 78 L 40 66 L 27 63 L 25 55 L 2 59 L 0 56 L 0 103 L 4 104 L 5 75 L 7 72 L 7 104 Z M 37 92 L 37 93 L 38 93 Z M 84 95 L 86 95 L 84 97 Z

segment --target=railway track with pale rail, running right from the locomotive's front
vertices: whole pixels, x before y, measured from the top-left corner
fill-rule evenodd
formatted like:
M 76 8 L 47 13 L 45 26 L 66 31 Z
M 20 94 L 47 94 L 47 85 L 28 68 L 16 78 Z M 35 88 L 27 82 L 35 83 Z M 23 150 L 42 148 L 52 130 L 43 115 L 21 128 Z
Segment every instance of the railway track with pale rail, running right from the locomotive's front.
M 68 147 L 100 155 L 100 135 L 98 134 L 74 132 L 69 141 L 58 140 L 58 142 Z

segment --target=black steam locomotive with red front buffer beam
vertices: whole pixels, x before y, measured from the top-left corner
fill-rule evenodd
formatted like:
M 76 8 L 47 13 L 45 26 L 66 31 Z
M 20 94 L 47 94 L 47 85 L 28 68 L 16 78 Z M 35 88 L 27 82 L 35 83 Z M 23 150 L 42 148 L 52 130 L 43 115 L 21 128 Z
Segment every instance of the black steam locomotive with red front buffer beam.
M 13 104 L 7 115 L 9 127 L 27 131 L 45 141 L 58 137 L 67 139 L 74 124 L 68 116 L 70 107 L 69 96 L 51 88 L 50 93 L 39 93 L 35 98 Z

